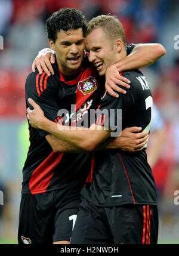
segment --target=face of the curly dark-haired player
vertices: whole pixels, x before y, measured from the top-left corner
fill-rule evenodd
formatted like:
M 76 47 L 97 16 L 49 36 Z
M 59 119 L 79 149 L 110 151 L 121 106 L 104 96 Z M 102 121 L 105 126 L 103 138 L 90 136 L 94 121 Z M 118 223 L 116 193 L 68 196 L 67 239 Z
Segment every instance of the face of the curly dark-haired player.
M 84 56 L 84 34 L 82 29 L 61 30 L 56 41 L 49 40 L 55 51 L 58 67 L 63 75 L 75 75 L 81 68 Z

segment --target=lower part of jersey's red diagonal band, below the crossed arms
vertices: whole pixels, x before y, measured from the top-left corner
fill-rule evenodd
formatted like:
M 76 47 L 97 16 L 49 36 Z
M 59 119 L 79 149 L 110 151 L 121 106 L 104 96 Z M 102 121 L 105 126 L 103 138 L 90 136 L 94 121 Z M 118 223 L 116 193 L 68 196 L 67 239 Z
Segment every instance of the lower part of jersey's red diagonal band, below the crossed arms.
M 52 152 L 38 168 L 33 171 L 30 181 L 29 189 L 32 195 L 44 193 L 47 191 L 48 184 L 54 175 L 55 167 L 60 164 L 63 153 Z

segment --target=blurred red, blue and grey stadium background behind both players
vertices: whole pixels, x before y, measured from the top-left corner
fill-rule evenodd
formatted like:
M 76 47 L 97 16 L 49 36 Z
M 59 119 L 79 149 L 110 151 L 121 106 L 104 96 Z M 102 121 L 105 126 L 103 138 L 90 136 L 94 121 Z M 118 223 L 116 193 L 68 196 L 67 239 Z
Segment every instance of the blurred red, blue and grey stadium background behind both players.
M 155 128 L 149 141 L 157 158 L 152 168 L 159 195 L 159 243 L 179 243 L 178 0 L 0 0 L 0 243 L 17 243 L 21 170 L 29 147 L 24 82 L 33 58 L 48 47 L 45 20 L 62 7 L 78 8 L 87 20 L 115 14 L 128 44 L 158 42 L 166 48 L 166 55 L 143 73 L 163 119 L 156 153 Z

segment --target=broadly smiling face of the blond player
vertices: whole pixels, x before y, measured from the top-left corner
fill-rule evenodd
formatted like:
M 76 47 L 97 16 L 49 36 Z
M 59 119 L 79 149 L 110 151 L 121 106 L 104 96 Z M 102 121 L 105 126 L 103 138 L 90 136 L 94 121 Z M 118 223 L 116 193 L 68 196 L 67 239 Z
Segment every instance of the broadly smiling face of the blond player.
M 101 28 L 92 30 L 86 36 L 85 45 L 90 52 L 89 61 L 94 64 L 100 76 L 105 75 L 107 67 L 119 61 L 118 47 L 109 42 Z

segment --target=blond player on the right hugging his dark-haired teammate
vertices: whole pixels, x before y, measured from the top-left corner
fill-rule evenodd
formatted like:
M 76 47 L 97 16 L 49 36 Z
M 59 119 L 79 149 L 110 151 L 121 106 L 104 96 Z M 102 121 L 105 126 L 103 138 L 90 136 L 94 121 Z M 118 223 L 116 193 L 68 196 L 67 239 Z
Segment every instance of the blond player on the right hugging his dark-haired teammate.
M 124 30 L 113 16 L 93 18 L 88 23 L 85 42 L 90 51 L 89 60 L 100 76 L 106 73 L 107 67 L 126 56 Z M 152 95 L 146 78 L 137 69 L 122 72 L 122 75 L 131 81 L 131 88 L 119 98 L 103 90 L 95 122 L 90 128 L 84 131 L 62 129 L 62 125 L 45 118 L 32 99 L 29 102 L 33 110 L 27 109 L 30 124 L 89 152 L 98 150 L 120 125 L 122 129 L 137 126 L 149 132 Z M 122 109 L 122 116 L 118 115 L 119 109 Z M 111 121 L 114 122 L 111 124 Z M 91 174 L 81 194 L 72 244 L 157 243 L 156 186 L 147 163 L 146 147 L 138 152 L 120 149 L 95 152 Z

